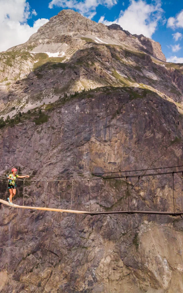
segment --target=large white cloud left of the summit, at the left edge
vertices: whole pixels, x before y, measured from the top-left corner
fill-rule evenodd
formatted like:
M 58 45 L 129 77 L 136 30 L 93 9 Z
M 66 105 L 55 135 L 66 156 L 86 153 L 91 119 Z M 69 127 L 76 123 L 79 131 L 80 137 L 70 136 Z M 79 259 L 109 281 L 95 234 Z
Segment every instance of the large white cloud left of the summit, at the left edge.
M 26 0 L 0 0 L 0 52 L 26 42 L 38 28 L 48 22 L 41 18 L 34 22 L 33 27 L 27 20 L 36 11 L 30 11 Z

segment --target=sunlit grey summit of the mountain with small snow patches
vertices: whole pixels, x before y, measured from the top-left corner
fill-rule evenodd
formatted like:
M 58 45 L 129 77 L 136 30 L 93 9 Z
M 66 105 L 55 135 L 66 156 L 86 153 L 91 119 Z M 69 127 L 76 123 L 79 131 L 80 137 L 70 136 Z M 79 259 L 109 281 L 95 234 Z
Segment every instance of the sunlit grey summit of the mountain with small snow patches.
M 61 10 L 56 16 L 50 18 L 49 22 L 40 27 L 37 33 L 33 34 L 25 44 L 13 47 L 8 51 L 25 51 L 30 50 L 28 48 L 31 47 L 34 48 L 34 52 L 65 52 L 63 51 L 65 42 L 75 51 L 81 49 L 84 44 L 83 42 L 81 44 L 81 38 L 95 44 L 118 45 L 130 50 L 134 48 L 134 50 L 146 52 L 166 61 L 158 42 L 143 35 L 131 35 L 118 24 L 107 26 L 96 23 L 71 9 Z

